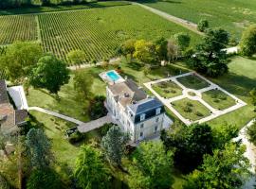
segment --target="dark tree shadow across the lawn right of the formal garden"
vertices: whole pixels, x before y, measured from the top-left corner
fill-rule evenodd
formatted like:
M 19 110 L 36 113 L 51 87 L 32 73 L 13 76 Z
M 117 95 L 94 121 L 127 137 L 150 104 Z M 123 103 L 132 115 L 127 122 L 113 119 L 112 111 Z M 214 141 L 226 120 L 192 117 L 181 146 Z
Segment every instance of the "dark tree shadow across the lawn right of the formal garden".
M 229 73 L 222 77 L 212 78 L 211 80 L 226 89 L 229 93 L 243 97 L 248 97 L 248 93 L 253 88 L 256 88 L 255 79 L 239 76 L 235 73 Z

